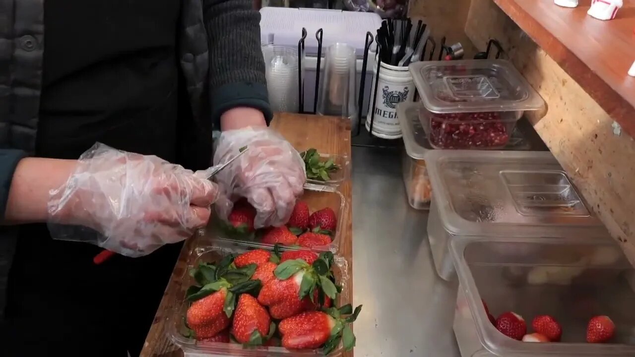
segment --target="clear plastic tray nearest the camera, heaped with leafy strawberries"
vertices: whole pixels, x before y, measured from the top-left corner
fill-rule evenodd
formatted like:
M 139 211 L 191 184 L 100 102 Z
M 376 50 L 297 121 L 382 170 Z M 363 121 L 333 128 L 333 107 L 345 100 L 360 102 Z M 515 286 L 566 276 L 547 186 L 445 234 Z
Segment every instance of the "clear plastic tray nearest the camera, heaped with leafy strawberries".
M 288 351 L 283 347 L 245 347 L 242 344 L 221 343 L 221 342 L 198 342 L 184 336 L 185 321 L 184 316 L 187 312 L 188 303 L 185 301 L 185 292 L 190 285 L 193 285 L 194 279 L 188 274 L 192 267 L 197 266 L 199 262 L 218 262 L 226 255 L 231 253 L 240 254 L 248 250 L 246 247 L 240 246 L 204 246 L 195 248 L 190 253 L 189 266 L 185 269 L 181 291 L 175 303 L 171 316 L 168 318 L 167 333 L 174 344 L 184 351 L 186 357 L 201 356 L 248 356 L 248 357 L 277 357 L 277 356 L 319 356 L 322 355 L 318 350 L 299 350 Z M 349 290 L 346 286 L 349 284 L 351 277 L 349 276 L 349 267 L 347 261 L 343 257 L 335 257 L 333 266 L 333 274 L 335 281 L 342 285 L 342 293 L 336 299 L 337 306 L 343 306 L 351 302 Z M 329 356 L 341 356 L 344 348 L 340 346 L 335 349 Z

